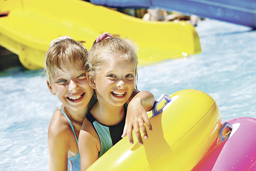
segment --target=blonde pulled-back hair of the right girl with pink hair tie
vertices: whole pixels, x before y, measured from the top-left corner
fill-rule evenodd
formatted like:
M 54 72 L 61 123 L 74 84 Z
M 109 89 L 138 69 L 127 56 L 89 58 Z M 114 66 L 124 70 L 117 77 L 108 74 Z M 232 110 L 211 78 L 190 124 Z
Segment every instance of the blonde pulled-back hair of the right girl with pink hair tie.
M 135 62 L 135 79 L 137 82 L 138 57 L 135 41 L 117 36 L 104 38 L 98 42 L 95 40 L 86 63 L 86 71 L 92 74 L 93 79 L 101 70 L 103 63 L 108 60 L 108 56 L 121 57 L 124 60 Z

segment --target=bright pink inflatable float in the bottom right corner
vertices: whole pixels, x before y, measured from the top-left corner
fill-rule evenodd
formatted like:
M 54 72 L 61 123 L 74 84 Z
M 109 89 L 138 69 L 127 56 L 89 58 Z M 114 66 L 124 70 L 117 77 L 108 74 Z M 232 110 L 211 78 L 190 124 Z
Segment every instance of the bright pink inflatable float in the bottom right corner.
M 225 134 L 227 135 L 226 138 Z M 193 168 L 193 171 L 196 170 L 255 171 L 256 119 L 248 117 L 235 118 L 222 123 L 219 138 Z

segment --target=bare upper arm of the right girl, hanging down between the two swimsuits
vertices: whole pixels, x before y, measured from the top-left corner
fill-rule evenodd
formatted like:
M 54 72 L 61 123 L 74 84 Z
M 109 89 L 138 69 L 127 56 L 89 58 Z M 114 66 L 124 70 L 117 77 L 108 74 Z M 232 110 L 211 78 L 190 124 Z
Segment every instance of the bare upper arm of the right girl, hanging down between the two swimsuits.
M 92 124 L 85 119 L 78 139 L 81 170 L 86 170 L 99 158 L 98 148 L 100 149 L 100 146 L 98 147 L 98 139 L 96 139 L 95 134 L 97 136 Z

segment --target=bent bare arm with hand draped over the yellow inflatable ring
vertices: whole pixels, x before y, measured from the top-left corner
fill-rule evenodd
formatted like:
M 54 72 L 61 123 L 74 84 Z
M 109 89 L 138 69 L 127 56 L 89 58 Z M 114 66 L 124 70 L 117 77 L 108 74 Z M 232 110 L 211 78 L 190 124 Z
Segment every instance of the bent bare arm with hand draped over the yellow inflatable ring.
M 148 91 L 139 92 L 138 90 L 135 90 L 132 97 L 126 103 L 128 104 L 128 108 L 122 137 L 127 135 L 130 143 L 133 144 L 132 132 L 134 130 L 138 142 L 142 145 L 143 140 L 140 134 L 140 129 L 144 138 L 147 138 L 147 131 L 144 123 L 148 126 L 148 130 L 152 132 L 152 125 L 146 112 L 152 110 L 155 103 L 155 97 Z

